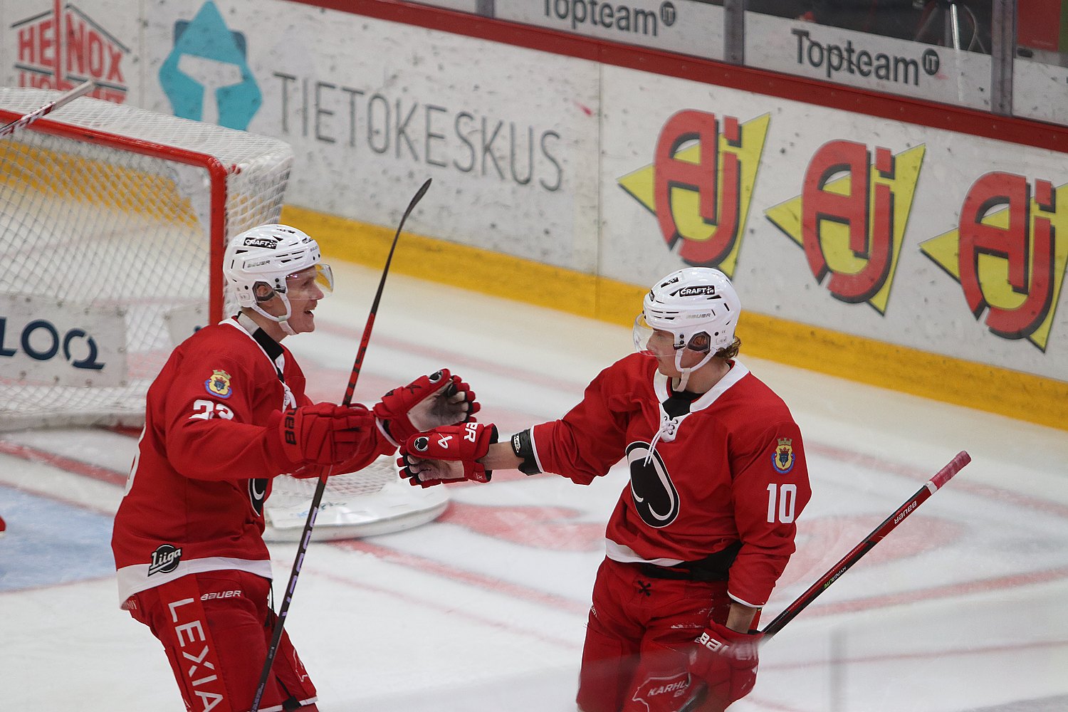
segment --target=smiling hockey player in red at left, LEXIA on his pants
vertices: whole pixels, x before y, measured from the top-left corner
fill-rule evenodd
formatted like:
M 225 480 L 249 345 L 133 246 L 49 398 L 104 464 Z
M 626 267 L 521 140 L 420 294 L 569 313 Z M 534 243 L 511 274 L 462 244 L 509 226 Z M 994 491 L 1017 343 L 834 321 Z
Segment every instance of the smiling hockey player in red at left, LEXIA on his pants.
M 304 233 L 242 233 L 223 272 L 240 312 L 180 344 L 148 389 L 111 540 L 122 607 L 163 644 L 197 712 L 245 712 L 257 689 L 276 620 L 263 540 L 272 478 L 354 472 L 408 436 L 477 410 L 445 369 L 390 391 L 373 410 L 311 402 L 281 344 L 314 331 L 315 307 L 333 286 Z M 261 710 L 316 709 L 284 632 L 271 669 Z

